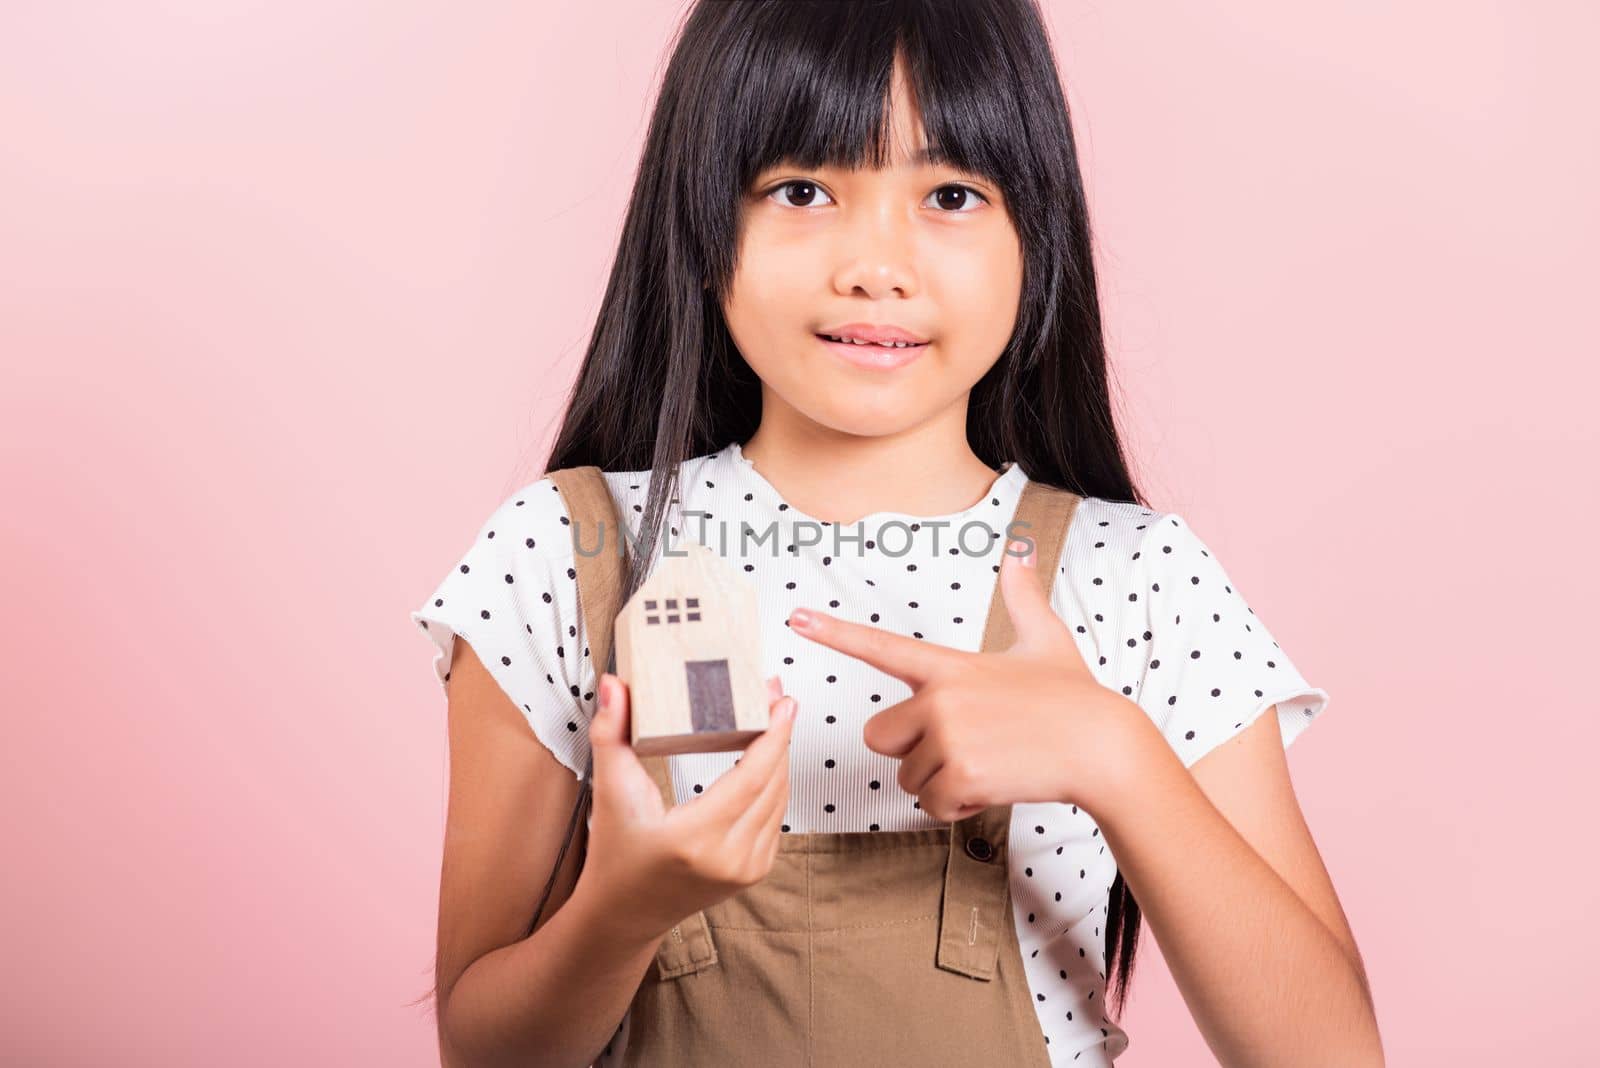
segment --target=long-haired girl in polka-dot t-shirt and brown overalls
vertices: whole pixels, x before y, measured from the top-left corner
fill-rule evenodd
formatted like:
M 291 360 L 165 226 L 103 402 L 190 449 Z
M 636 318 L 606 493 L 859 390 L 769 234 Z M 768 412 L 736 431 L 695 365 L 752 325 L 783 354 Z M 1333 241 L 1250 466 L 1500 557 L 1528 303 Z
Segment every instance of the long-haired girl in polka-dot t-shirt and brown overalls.
M 1381 1063 L 1283 759 L 1328 694 L 1110 412 L 1030 0 L 698 3 L 550 473 L 413 612 L 445 1063 L 1106 1065 L 1141 916 L 1222 1063 Z M 622 596 L 683 537 L 757 590 L 742 753 L 627 745 L 586 465 Z

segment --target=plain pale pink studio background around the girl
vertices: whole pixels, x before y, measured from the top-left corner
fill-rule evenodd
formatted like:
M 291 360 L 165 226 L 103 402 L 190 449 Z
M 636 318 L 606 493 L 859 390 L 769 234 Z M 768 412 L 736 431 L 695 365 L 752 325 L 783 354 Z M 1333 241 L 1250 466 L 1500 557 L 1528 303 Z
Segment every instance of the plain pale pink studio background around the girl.
M 1142 484 L 1333 695 L 1392 1063 L 1582 1060 L 1597 19 L 1048 11 Z M 542 470 L 678 13 L 0 8 L 0 1058 L 435 1063 L 406 614 Z M 1122 1063 L 1210 1063 L 1146 953 Z

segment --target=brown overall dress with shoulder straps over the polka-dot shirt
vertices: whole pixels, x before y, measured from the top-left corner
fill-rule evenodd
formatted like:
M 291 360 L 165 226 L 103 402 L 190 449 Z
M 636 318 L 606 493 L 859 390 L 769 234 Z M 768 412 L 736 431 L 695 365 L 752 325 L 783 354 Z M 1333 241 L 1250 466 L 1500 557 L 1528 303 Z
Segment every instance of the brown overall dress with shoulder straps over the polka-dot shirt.
M 605 545 L 626 550 L 600 468 L 552 480 L 589 531 L 584 545 L 603 521 Z M 1024 483 L 1013 532 L 1035 540 L 1046 590 L 1078 500 Z M 574 560 L 603 670 L 624 558 Z M 1014 633 L 997 576 L 979 649 L 1006 649 Z M 667 758 L 642 763 L 670 807 Z M 622 1063 L 1048 1068 L 1011 916 L 1010 827 L 1011 806 L 997 804 L 933 828 L 782 835 L 765 879 L 661 940 L 629 1007 Z

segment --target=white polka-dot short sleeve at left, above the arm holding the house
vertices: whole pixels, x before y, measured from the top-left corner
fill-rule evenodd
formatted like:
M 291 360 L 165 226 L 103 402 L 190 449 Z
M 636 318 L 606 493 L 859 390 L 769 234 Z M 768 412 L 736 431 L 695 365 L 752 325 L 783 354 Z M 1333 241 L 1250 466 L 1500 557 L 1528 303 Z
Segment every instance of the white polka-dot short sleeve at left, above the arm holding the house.
M 434 675 L 446 699 L 459 636 L 534 735 L 582 779 L 598 675 L 578 608 L 570 531 L 549 478 L 512 494 L 411 620 L 434 643 Z

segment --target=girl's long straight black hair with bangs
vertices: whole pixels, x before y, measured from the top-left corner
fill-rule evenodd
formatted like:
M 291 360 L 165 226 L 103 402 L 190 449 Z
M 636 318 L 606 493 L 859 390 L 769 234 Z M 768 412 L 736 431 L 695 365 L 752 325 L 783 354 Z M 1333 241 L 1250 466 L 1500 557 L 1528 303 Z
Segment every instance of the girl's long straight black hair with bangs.
M 896 59 L 933 158 L 995 182 L 1024 249 L 1014 331 L 968 403 L 973 452 L 1080 496 L 1149 507 L 1112 420 L 1088 205 L 1034 0 L 696 0 L 546 462 L 661 472 L 638 545 L 658 544 L 678 465 L 746 441 L 760 422 L 760 381 L 722 315 L 749 184 L 786 160 L 885 166 Z M 630 553 L 624 596 L 648 563 Z M 1118 873 L 1106 919 L 1118 1012 L 1138 940 L 1139 907 Z

